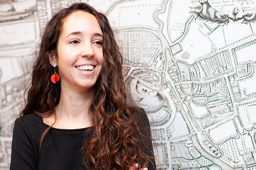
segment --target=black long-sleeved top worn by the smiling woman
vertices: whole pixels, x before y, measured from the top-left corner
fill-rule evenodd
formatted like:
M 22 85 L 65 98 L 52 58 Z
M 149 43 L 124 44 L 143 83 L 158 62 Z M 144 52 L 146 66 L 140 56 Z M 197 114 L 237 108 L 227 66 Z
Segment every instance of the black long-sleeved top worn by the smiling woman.
M 137 123 L 141 132 L 148 137 L 150 124 L 148 117 L 143 112 L 135 111 Z M 88 169 L 82 163 L 79 152 L 83 139 L 89 140 L 93 133 L 93 126 L 82 129 L 57 129 L 51 128 L 42 143 L 39 158 L 39 141 L 43 132 L 49 125 L 43 123 L 43 118 L 35 113 L 22 116 L 15 120 L 12 137 L 12 156 L 10 170 L 80 170 Z M 146 128 L 145 128 L 146 127 Z M 154 157 L 152 142 L 141 137 L 140 149 L 148 156 Z M 148 170 L 156 167 L 155 160 L 151 159 Z M 150 162 L 150 161 L 149 161 Z M 140 162 L 141 166 L 143 162 Z M 87 165 L 90 167 L 90 165 Z

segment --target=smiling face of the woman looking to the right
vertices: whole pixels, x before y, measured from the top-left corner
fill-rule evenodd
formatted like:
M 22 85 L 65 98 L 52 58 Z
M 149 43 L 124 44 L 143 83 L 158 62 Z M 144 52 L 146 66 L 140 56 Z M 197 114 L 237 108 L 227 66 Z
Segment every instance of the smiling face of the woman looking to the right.
M 57 66 L 61 90 L 89 90 L 100 75 L 104 61 L 103 36 L 97 18 L 76 11 L 64 19 L 58 41 Z

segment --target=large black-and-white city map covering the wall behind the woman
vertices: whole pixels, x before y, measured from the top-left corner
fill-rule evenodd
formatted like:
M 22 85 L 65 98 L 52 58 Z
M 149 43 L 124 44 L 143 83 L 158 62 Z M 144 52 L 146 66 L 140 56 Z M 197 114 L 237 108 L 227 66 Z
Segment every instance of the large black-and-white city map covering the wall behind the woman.
M 40 33 L 74 2 L 104 12 L 115 30 L 157 169 L 256 169 L 256 0 L 0 0 L 0 170 Z

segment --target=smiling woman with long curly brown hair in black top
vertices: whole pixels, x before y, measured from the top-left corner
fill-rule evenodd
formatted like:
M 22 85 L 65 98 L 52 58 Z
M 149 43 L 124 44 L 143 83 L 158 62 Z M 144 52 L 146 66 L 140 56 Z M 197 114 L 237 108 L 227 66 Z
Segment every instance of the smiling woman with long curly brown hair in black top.
M 122 56 L 105 15 L 73 4 L 46 25 L 10 169 L 137 168 L 156 168 L 147 115 L 126 102 Z

